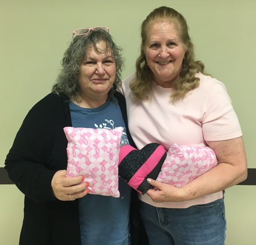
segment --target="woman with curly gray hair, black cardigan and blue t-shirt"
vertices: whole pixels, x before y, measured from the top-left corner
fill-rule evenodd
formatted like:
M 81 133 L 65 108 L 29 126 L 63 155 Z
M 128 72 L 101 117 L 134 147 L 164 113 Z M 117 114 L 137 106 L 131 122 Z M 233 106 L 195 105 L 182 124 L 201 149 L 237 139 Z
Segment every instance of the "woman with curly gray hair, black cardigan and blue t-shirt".
M 119 198 L 91 195 L 92 183 L 66 170 L 64 127 L 123 127 L 121 143 L 134 145 L 125 99 L 116 91 L 121 51 L 107 27 L 73 31 L 52 93 L 23 121 L 5 160 L 9 178 L 25 194 L 20 245 L 138 244 L 136 201 L 125 180 L 117 176 Z

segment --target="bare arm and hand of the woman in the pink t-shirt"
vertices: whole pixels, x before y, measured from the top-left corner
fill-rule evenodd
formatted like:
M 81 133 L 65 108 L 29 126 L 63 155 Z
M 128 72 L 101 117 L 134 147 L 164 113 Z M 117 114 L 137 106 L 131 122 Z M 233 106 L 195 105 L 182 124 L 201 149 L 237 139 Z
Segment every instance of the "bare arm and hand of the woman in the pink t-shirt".
M 217 156 L 218 165 L 180 188 L 151 180 L 147 194 L 154 202 L 188 201 L 220 192 L 247 178 L 247 159 L 242 137 L 207 142 Z

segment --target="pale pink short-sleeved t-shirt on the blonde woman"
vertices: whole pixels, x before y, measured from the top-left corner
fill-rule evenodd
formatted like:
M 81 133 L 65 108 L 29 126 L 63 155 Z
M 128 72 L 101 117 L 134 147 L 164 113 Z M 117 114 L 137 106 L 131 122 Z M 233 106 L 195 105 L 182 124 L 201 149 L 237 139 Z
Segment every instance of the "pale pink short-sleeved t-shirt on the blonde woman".
M 173 89 L 152 81 L 150 100 L 134 99 L 129 83 L 134 74 L 123 80 L 120 92 L 125 96 L 129 131 L 141 149 L 148 143 L 159 143 L 169 149 L 174 143 L 206 146 L 205 140 L 227 140 L 242 136 L 238 118 L 224 84 L 198 73 L 200 85 L 176 103 L 170 101 Z M 185 202 L 154 203 L 147 195 L 139 199 L 155 207 L 186 208 L 222 198 L 222 192 Z

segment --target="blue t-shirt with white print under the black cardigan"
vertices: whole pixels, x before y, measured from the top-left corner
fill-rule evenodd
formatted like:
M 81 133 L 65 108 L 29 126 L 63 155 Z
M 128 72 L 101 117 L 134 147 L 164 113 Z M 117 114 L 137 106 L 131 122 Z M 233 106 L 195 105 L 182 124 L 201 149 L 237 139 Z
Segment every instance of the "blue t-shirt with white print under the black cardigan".
M 85 109 L 69 102 L 72 127 L 114 129 L 123 127 L 120 145 L 129 144 L 125 122 L 118 103 Z M 120 197 L 87 194 L 79 198 L 79 221 L 82 245 L 130 245 L 129 211 L 131 187 L 119 177 Z

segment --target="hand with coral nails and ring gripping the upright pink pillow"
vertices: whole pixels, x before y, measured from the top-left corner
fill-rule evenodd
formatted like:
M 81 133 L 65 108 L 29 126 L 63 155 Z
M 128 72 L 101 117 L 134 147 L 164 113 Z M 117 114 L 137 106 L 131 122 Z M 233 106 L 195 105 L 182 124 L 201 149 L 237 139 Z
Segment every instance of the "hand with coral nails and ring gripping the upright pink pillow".
M 66 170 L 57 171 L 52 177 L 52 192 L 56 198 L 62 201 L 73 201 L 86 196 L 90 190 L 88 183 L 83 183 L 84 176 L 67 177 Z

